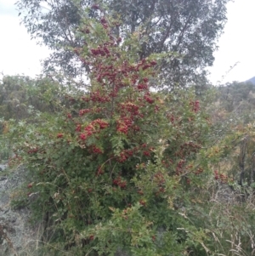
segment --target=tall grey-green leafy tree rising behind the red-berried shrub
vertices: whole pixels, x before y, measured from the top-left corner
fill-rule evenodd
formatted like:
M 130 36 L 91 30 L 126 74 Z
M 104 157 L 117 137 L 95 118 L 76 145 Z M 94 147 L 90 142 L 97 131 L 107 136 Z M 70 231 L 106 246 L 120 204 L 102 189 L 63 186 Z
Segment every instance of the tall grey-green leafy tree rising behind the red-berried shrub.
M 17 3 L 31 37 L 44 43 L 53 53 L 44 62 L 45 71 L 57 67 L 77 77 L 89 71 L 77 63 L 71 48 L 80 47 L 74 30 L 82 12 L 90 9 L 89 19 L 104 12 L 121 17 L 116 37 L 139 32 L 140 59 L 151 53 L 172 53 L 161 64 L 161 79 L 168 88 L 192 82 L 206 82 L 205 67 L 213 63 L 213 51 L 226 22 L 229 0 L 20 0 Z M 142 30 L 139 28 L 142 27 Z M 87 32 L 89 29 L 87 28 Z M 164 82 L 161 81 L 161 84 Z

